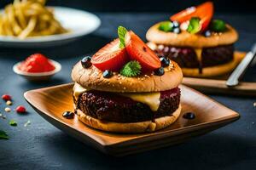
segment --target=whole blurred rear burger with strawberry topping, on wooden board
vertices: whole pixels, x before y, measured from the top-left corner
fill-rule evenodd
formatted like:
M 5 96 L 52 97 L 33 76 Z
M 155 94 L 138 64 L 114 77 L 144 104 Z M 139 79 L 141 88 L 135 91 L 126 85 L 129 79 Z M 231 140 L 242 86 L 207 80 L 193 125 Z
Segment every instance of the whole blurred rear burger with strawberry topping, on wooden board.
M 216 77 L 232 71 L 236 30 L 224 20 L 213 20 L 213 3 L 202 3 L 150 27 L 148 46 L 182 67 L 186 77 Z

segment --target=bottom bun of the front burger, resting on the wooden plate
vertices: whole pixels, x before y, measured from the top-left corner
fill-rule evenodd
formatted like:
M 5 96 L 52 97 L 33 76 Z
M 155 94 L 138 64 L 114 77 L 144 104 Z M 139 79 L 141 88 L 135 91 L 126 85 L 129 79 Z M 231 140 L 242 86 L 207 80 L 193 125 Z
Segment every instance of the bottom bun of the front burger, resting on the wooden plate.
M 181 105 L 172 113 L 172 116 L 162 116 L 152 121 L 145 122 L 107 122 L 100 121 L 91 116 L 87 116 L 81 110 L 77 111 L 79 121 L 84 122 L 89 127 L 112 133 L 150 133 L 170 126 L 180 115 Z

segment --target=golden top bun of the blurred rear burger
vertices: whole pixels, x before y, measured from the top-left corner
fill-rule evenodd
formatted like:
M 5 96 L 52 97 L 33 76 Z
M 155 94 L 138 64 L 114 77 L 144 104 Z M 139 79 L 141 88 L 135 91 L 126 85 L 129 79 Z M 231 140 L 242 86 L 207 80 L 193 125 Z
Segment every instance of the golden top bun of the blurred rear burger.
M 227 31 L 216 33 L 211 37 L 204 37 L 201 34 L 190 34 L 187 31 L 182 31 L 179 34 L 160 31 L 158 29 L 160 23 L 149 28 L 146 34 L 149 42 L 177 47 L 207 48 L 228 45 L 236 42 L 238 39 L 238 33 L 230 25 L 226 25 Z

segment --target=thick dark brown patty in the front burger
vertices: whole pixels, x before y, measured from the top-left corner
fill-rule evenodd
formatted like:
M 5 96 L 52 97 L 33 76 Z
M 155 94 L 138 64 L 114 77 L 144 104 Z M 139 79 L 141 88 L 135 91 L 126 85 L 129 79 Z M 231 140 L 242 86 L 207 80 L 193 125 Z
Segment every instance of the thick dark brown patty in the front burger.
M 143 122 L 170 116 L 180 102 L 180 89 L 160 92 L 160 106 L 151 111 L 148 105 L 114 93 L 88 91 L 75 101 L 77 109 L 96 119 L 109 122 Z

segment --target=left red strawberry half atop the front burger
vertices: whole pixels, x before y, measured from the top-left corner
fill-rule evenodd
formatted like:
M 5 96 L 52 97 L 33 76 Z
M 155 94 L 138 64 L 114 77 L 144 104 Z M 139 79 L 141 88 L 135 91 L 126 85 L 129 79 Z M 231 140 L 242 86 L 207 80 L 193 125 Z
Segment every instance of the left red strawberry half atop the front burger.
M 125 48 L 119 48 L 119 39 L 115 39 L 96 52 L 90 61 L 101 71 L 119 71 L 128 61 L 128 56 Z

